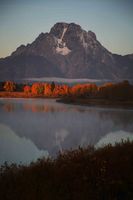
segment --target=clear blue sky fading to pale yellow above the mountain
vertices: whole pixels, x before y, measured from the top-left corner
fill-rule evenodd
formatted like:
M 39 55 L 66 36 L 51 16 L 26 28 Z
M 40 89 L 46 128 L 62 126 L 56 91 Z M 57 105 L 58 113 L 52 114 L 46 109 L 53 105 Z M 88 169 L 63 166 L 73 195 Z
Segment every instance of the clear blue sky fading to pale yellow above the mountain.
M 33 42 L 57 22 L 95 32 L 112 53 L 133 53 L 132 0 L 0 0 L 0 57 Z

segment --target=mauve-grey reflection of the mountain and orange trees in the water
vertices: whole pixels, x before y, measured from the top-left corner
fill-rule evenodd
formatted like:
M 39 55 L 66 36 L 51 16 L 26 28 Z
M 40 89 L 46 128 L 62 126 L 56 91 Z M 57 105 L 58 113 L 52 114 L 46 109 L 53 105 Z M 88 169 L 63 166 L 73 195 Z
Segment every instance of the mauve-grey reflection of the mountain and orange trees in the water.
M 120 130 L 132 136 L 133 110 L 65 105 L 51 99 L 0 99 L 0 123 L 53 156 L 59 150 L 98 144 L 108 133 L 114 139 Z

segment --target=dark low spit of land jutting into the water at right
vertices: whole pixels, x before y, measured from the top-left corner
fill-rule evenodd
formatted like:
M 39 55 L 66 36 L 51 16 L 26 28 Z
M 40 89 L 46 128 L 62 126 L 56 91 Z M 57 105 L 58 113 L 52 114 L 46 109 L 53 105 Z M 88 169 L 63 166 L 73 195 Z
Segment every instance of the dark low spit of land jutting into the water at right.
M 107 100 L 100 98 L 75 98 L 75 97 L 66 97 L 58 99 L 57 102 L 80 105 L 80 106 L 102 106 L 102 107 L 112 107 L 112 108 L 131 108 L 133 109 L 133 101 L 120 101 L 120 100 Z

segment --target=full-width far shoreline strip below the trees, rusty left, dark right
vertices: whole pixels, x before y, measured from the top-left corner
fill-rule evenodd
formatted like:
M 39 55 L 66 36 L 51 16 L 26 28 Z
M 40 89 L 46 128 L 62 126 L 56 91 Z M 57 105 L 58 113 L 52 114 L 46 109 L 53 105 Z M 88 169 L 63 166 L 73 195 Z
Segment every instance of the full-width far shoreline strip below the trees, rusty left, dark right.
M 79 97 L 54 97 L 35 95 L 25 92 L 0 92 L 0 98 L 51 98 L 57 99 L 58 103 L 80 105 L 80 106 L 102 106 L 112 108 L 129 108 L 133 109 L 133 101 L 126 100 L 108 100 L 103 98 L 79 98 Z

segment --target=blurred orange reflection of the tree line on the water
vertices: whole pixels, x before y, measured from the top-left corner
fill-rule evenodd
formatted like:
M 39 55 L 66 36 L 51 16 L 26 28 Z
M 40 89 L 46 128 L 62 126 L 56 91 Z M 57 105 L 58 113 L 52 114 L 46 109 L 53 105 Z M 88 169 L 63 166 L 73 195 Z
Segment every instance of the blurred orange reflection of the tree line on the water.
M 80 112 L 80 113 L 89 113 L 90 115 L 95 115 L 99 116 L 100 119 L 103 121 L 105 120 L 110 120 L 119 125 L 123 124 L 125 128 L 132 124 L 132 118 L 133 118 L 133 112 L 128 112 L 128 110 L 125 112 L 121 112 L 121 110 L 118 110 L 114 112 L 114 110 L 97 110 L 97 109 L 84 109 L 81 107 L 66 107 L 66 106 L 61 106 L 61 105 L 52 105 L 52 104 L 46 104 L 46 103 L 41 103 L 38 104 L 34 101 L 31 102 L 23 102 L 22 104 L 16 105 L 13 102 L 5 102 L 4 104 L 1 105 L 2 109 L 6 112 L 15 112 L 17 110 L 24 110 L 26 112 L 32 112 L 32 113 L 55 113 L 55 112 L 63 112 L 67 113 L 68 111 L 71 112 Z M 132 126 L 131 126 L 132 127 Z

